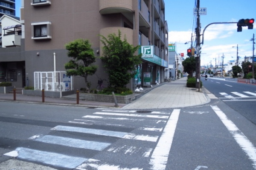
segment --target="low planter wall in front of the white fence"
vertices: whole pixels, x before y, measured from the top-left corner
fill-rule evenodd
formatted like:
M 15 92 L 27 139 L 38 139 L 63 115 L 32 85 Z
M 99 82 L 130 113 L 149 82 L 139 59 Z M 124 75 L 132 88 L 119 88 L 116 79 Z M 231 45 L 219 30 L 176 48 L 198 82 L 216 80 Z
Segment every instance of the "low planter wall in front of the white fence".
M 60 98 L 61 96 L 67 96 L 70 94 L 74 94 L 74 91 L 44 91 L 45 97 L 55 97 Z M 22 90 L 22 94 L 30 95 L 30 96 L 42 96 L 42 91 L 40 90 Z

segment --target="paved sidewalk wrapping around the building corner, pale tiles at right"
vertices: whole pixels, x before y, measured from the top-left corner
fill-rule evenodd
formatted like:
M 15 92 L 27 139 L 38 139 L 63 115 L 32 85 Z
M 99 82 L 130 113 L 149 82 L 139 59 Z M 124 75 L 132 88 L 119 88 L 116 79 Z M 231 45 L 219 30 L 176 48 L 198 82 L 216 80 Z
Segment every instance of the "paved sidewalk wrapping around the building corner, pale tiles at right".
M 164 82 L 160 85 L 153 85 L 152 88 L 143 88 L 145 93 L 129 104 L 118 104 L 123 109 L 154 109 L 154 108 L 183 108 L 189 106 L 202 105 L 209 102 L 205 93 L 198 92 L 196 88 L 186 87 L 186 77 L 172 82 Z M 204 88 L 202 89 L 204 91 Z M 68 98 L 68 99 L 67 99 Z M 42 102 L 41 96 L 27 96 L 16 94 L 0 94 L 0 101 L 41 103 L 49 105 L 70 105 L 92 108 L 115 108 L 113 102 L 94 102 L 79 100 L 76 104 L 76 94 L 64 96 L 62 98 L 45 97 Z

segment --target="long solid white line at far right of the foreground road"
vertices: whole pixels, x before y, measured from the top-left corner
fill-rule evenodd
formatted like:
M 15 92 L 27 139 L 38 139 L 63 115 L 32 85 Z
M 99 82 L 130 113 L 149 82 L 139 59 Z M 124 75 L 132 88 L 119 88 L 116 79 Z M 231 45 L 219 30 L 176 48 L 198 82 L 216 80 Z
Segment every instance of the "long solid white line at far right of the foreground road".
M 222 123 L 230 131 L 236 142 L 239 144 L 242 150 L 249 156 L 249 159 L 253 162 L 253 167 L 256 169 L 256 148 L 252 142 L 242 133 L 238 127 L 223 113 L 217 106 L 212 106 L 213 111 L 221 119 Z

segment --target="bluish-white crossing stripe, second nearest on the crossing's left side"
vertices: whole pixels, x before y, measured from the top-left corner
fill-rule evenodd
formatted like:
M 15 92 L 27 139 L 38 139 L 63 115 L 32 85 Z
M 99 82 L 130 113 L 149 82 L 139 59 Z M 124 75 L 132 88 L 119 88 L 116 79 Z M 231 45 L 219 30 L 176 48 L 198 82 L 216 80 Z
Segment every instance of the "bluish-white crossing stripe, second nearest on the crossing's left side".
M 90 150 L 104 150 L 106 147 L 111 145 L 111 143 L 86 141 L 81 139 L 72 139 L 51 135 L 43 136 L 41 138 L 35 139 L 35 141 Z

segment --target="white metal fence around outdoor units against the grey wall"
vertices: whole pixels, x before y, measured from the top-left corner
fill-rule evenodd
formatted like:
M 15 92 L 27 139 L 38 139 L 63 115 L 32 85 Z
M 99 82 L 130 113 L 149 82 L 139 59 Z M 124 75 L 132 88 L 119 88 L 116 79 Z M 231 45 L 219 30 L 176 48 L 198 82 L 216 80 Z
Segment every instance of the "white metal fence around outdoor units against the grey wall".
M 35 90 L 71 91 L 73 77 L 67 76 L 66 71 L 34 72 Z

